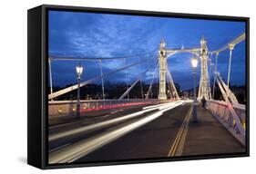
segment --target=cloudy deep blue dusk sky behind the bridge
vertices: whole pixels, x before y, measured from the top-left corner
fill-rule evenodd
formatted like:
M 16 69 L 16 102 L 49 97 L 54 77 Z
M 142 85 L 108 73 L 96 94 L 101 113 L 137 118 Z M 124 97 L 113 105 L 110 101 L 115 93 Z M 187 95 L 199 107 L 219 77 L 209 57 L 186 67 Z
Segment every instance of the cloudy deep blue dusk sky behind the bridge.
M 49 12 L 49 56 L 106 58 L 128 56 L 158 50 L 163 38 L 168 49 L 198 48 L 204 36 L 210 51 L 229 43 L 245 32 L 245 23 L 195 20 L 182 18 L 148 17 L 120 14 L 92 14 L 63 11 Z M 233 51 L 230 82 L 245 84 L 245 42 Z M 189 53 L 178 53 L 168 59 L 169 71 L 182 90 L 192 87 Z M 150 82 L 155 72 L 157 51 L 149 55 L 118 60 L 103 60 L 103 72 L 108 73 L 130 63 L 148 62 L 133 66 L 104 78 L 105 82 L 134 82 L 140 73 L 143 82 Z M 212 61 L 215 57 L 211 58 Z M 229 50 L 220 53 L 218 71 L 227 80 Z M 83 81 L 100 74 L 98 61 L 82 61 Z M 77 61 L 52 61 L 53 85 L 64 87 L 76 82 Z M 212 76 L 211 76 L 212 77 Z M 200 67 L 198 69 L 198 81 Z M 159 81 L 157 73 L 155 82 Z M 95 82 L 100 83 L 100 80 Z

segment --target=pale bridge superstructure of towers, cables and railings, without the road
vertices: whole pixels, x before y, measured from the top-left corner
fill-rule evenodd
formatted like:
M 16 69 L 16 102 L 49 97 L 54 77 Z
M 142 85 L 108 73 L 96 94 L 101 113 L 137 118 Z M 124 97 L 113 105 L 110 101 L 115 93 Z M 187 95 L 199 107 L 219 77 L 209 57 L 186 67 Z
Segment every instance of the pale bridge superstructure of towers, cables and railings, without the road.
M 245 105 L 238 102 L 235 94 L 230 90 L 230 69 L 232 62 L 232 53 L 234 49 L 241 42 L 244 42 L 246 38 L 245 34 L 241 34 L 237 38 L 234 38 L 229 43 L 226 43 L 223 47 L 218 50 L 210 51 L 208 48 L 207 40 L 202 37 L 200 39 L 200 46 L 194 48 L 184 48 L 183 46 L 179 49 L 169 49 L 167 48 L 167 43 L 162 39 L 159 43 L 159 48 L 150 51 L 148 53 L 142 53 L 132 56 L 120 56 L 120 57 L 108 57 L 108 58 L 90 58 L 90 57 L 60 57 L 60 56 L 50 56 L 49 60 L 49 83 L 50 83 L 50 93 L 48 94 L 49 103 L 49 116 L 56 115 L 72 115 L 76 112 L 77 101 L 56 101 L 58 96 L 66 94 L 67 92 L 76 91 L 79 87 L 86 86 L 89 83 L 101 81 L 102 86 L 102 99 L 101 100 L 81 100 L 79 102 L 80 110 L 93 111 L 97 109 L 112 109 L 119 106 L 128 106 L 132 104 L 143 104 L 150 103 L 154 101 L 167 101 L 169 99 L 179 101 L 179 92 L 175 87 L 175 79 L 171 75 L 171 63 L 168 64 L 167 60 L 169 57 L 177 53 L 191 53 L 191 56 L 197 58 L 200 62 L 200 83 L 198 84 L 199 90 L 197 99 L 200 102 L 204 98 L 208 103 L 209 111 L 216 116 L 216 118 L 225 126 L 229 131 L 242 143 L 245 143 L 245 131 L 246 131 L 246 114 Z M 225 82 L 222 78 L 223 74 L 218 72 L 218 59 L 221 52 L 226 50 L 230 51 L 229 54 L 229 64 L 228 64 L 228 74 L 227 81 Z M 128 64 L 129 58 L 138 58 L 135 63 Z M 102 69 L 102 62 L 108 63 L 111 60 L 123 61 L 124 65 L 118 67 L 112 72 L 104 73 Z M 87 81 L 80 82 L 79 85 L 75 84 L 65 89 L 61 89 L 57 92 L 53 92 L 53 78 L 52 78 L 52 62 L 58 61 L 72 61 L 72 62 L 82 62 L 82 61 L 92 61 L 98 62 L 100 66 L 100 75 L 88 79 Z M 154 67 L 148 67 L 144 72 L 138 73 L 138 78 L 132 82 L 130 85 L 127 83 L 126 92 L 121 93 L 117 100 L 111 100 L 105 98 L 105 87 L 104 79 L 107 76 L 114 75 L 115 73 L 125 71 L 126 78 L 128 75 L 128 69 L 134 66 L 138 66 L 142 63 L 147 63 L 148 61 L 154 62 Z M 148 87 L 148 91 L 143 93 L 142 90 L 142 78 L 145 77 L 148 70 L 154 68 L 154 73 L 151 77 L 151 82 Z M 159 73 L 159 94 L 157 99 L 150 98 L 150 93 L 152 93 L 152 84 L 154 79 Z M 213 88 L 210 88 L 210 75 L 213 75 L 214 82 L 212 84 Z M 226 74 L 225 74 L 226 78 Z M 141 86 L 141 98 L 131 99 L 129 93 L 131 90 L 140 82 Z M 219 87 L 220 92 L 223 97 L 223 101 L 215 100 L 215 88 Z

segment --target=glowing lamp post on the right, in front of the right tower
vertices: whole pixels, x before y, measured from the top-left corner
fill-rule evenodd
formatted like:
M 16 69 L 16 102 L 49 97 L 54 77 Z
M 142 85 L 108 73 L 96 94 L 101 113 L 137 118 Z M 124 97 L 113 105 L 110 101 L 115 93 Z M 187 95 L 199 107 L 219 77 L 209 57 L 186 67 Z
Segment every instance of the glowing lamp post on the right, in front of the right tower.
M 193 80 L 194 80 L 194 102 L 193 102 L 193 122 L 198 121 L 198 113 L 197 113 L 197 92 L 196 92 L 196 83 L 197 83 L 197 67 L 199 60 L 196 57 L 191 59 L 191 66 L 193 69 Z

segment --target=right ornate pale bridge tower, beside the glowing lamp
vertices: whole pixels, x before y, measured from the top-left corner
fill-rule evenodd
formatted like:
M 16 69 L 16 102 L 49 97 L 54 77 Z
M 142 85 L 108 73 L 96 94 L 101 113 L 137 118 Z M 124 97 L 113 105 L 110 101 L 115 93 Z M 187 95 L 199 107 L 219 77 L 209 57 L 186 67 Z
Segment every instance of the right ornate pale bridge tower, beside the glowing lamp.
M 201 100 L 203 97 L 206 100 L 210 100 L 210 82 L 208 73 L 208 47 L 204 37 L 200 40 L 200 62 L 201 62 L 201 73 L 200 73 L 200 89 L 198 99 Z

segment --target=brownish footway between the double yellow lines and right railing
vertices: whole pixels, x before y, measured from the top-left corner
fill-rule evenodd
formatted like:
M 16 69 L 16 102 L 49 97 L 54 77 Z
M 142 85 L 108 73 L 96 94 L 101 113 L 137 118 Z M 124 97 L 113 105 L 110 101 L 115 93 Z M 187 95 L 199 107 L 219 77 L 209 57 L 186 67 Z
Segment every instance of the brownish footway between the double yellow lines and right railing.
M 189 122 L 182 155 L 245 152 L 245 148 L 219 121 L 202 106 L 198 106 L 198 122 Z

